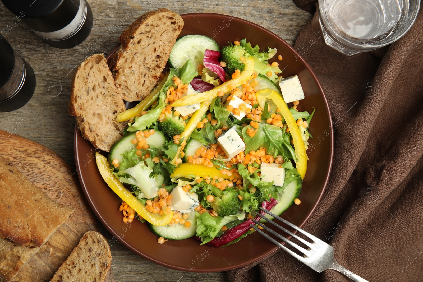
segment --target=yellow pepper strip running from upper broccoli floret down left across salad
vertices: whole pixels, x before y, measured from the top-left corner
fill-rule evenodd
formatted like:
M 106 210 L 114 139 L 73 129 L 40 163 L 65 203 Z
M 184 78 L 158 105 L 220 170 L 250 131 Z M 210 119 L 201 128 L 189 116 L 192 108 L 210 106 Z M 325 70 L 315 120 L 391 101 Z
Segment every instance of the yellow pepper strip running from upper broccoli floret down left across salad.
M 253 75 L 254 71 L 254 59 L 252 57 L 245 58 L 242 61 L 245 64 L 244 71 L 242 71 L 241 76 L 238 78 L 233 78 L 228 80 L 227 82 L 223 82 L 221 85 L 203 92 L 203 93 L 196 93 L 192 95 L 186 95 L 179 100 L 174 101 L 170 106 L 172 107 L 180 107 L 180 106 L 188 106 L 196 103 L 200 103 L 203 101 L 207 101 L 217 97 L 217 92 L 222 91 L 223 93 L 227 93 L 232 89 L 235 89 L 239 85 L 244 84 L 247 82 L 251 75 Z

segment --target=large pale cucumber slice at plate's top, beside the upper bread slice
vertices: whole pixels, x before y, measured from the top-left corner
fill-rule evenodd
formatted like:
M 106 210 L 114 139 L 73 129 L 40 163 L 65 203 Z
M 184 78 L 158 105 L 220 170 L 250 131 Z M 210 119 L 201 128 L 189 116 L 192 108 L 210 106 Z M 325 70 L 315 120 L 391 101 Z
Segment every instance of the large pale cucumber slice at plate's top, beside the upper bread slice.
M 206 49 L 220 52 L 219 44 L 208 36 L 187 35 L 181 37 L 170 51 L 169 64 L 173 68 L 179 69 L 187 60 L 192 59 L 195 70 L 198 71 L 197 65 L 203 63 Z

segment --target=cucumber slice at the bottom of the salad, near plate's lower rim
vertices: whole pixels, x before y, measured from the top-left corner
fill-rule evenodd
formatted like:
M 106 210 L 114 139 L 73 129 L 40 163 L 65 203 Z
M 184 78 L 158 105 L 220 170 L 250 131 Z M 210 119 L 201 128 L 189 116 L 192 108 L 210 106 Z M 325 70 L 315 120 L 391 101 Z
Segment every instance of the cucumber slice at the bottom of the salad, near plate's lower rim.
M 183 240 L 197 234 L 197 217 L 195 216 L 195 211 L 190 212 L 190 217 L 185 221 L 191 222 L 191 226 L 189 228 L 180 223 L 176 223 L 172 226 L 156 226 L 147 222 L 147 226 L 148 229 L 150 229 L 150 231 L 158 237 L 170 240 Z

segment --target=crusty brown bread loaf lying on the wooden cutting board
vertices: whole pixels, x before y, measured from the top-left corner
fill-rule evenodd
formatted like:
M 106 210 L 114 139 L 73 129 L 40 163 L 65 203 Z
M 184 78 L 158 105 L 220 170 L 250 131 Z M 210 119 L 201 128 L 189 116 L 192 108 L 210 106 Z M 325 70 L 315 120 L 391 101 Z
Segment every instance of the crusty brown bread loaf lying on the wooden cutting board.
M 0 282 L 11 281 L 73 211 L 0 156 Z

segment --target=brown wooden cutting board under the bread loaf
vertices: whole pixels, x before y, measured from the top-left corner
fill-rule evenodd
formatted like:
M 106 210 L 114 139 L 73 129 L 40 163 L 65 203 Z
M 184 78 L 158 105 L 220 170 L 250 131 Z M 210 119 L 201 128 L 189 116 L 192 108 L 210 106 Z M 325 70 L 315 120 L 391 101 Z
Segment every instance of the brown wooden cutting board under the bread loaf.
M 96 230 L 96 219 L 82 193 L 76 172 L 50 149 L 0 130 L 0 155 L 44 189 L 49 197 L 75 211 L 16 275 L 16 282 L 46 282 L 53 277 L 85 232 Z M 111 274 L 106 281 L 112 281 Z

